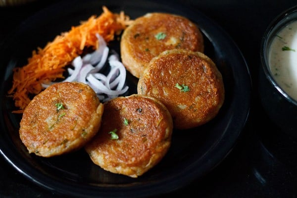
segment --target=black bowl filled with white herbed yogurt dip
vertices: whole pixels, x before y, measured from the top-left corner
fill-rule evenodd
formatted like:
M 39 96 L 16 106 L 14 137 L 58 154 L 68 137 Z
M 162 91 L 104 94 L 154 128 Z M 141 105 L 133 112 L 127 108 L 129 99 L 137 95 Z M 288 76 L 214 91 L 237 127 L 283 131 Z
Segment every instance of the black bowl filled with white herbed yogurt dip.
M 297 137 L 297 6 L 278 15 L 262 38 L 259 95 L 271 120 Z

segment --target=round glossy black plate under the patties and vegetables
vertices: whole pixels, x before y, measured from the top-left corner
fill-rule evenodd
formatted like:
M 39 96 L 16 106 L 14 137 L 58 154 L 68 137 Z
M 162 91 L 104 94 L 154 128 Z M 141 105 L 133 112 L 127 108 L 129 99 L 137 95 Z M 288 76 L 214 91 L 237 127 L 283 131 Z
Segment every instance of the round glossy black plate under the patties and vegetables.
M 23 66 L 31 51 L 43 47 L 72 25 L 99 15 L 102 5 L 111 11 L 124 10 L 131 18 L 147 12 L 183 15 L 203 32 L 205 54 L 223 75 L 226 98 L 219 114 L 209 123 L 187 131 L 174 131 L 172 146 L 162 161 L 135 179 L 102 170 L 82 149 L 74 153 L 43 158 L 28 154 L 20 141 L 20 114 L 13 114 L 13 101 L 6 97 L 12 69 Z M 119 53 L 118 42 L 111 48 Z M 168 193 L 202 178 L 232 150 L 249 113 L 251 83 L 247 64 L 232 39 L 209 18 L 180 4 L 160 1 L 71 0 L 42 10 L 26 20 L 0 47 L 0 152 L 29 180 L 49 190 L 83 197 L 146 197 Z M 128 75 L 129 94 L 136 92 L 137 80 Z

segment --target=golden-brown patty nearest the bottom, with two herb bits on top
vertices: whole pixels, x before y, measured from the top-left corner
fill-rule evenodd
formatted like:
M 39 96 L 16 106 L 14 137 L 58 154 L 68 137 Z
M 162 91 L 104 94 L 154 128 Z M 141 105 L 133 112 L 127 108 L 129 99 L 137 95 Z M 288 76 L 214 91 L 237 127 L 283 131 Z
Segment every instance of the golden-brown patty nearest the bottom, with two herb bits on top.
M 172 128 L 171 115 L 158 100 L 119 97 L 104 103 L 100 130 L 85 148 L 104 170 L 136 178 L 166 154 Z

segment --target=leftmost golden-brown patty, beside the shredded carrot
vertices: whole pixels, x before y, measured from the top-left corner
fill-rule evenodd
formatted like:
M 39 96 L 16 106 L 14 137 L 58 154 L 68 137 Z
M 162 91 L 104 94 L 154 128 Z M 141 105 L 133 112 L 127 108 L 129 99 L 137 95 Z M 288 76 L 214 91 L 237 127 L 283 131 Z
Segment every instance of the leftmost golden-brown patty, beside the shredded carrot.
M 103 104 L 83 83 L 57 83 L 25 108 L 20 138 L 36 155 L 50 157 L 82 148 L 99 131 Z

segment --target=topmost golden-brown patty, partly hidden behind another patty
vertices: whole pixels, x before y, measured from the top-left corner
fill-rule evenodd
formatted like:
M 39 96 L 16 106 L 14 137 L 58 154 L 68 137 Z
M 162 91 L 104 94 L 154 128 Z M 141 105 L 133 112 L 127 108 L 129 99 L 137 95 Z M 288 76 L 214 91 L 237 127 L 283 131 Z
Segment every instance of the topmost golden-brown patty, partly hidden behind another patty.
M 196 24 L 183 16 L 157 12 L 135 19 L 124 30 L 120 47 L 123 64 L 137 78 L 148 62 L 164 50 L 204 50 L 203 37 Z

